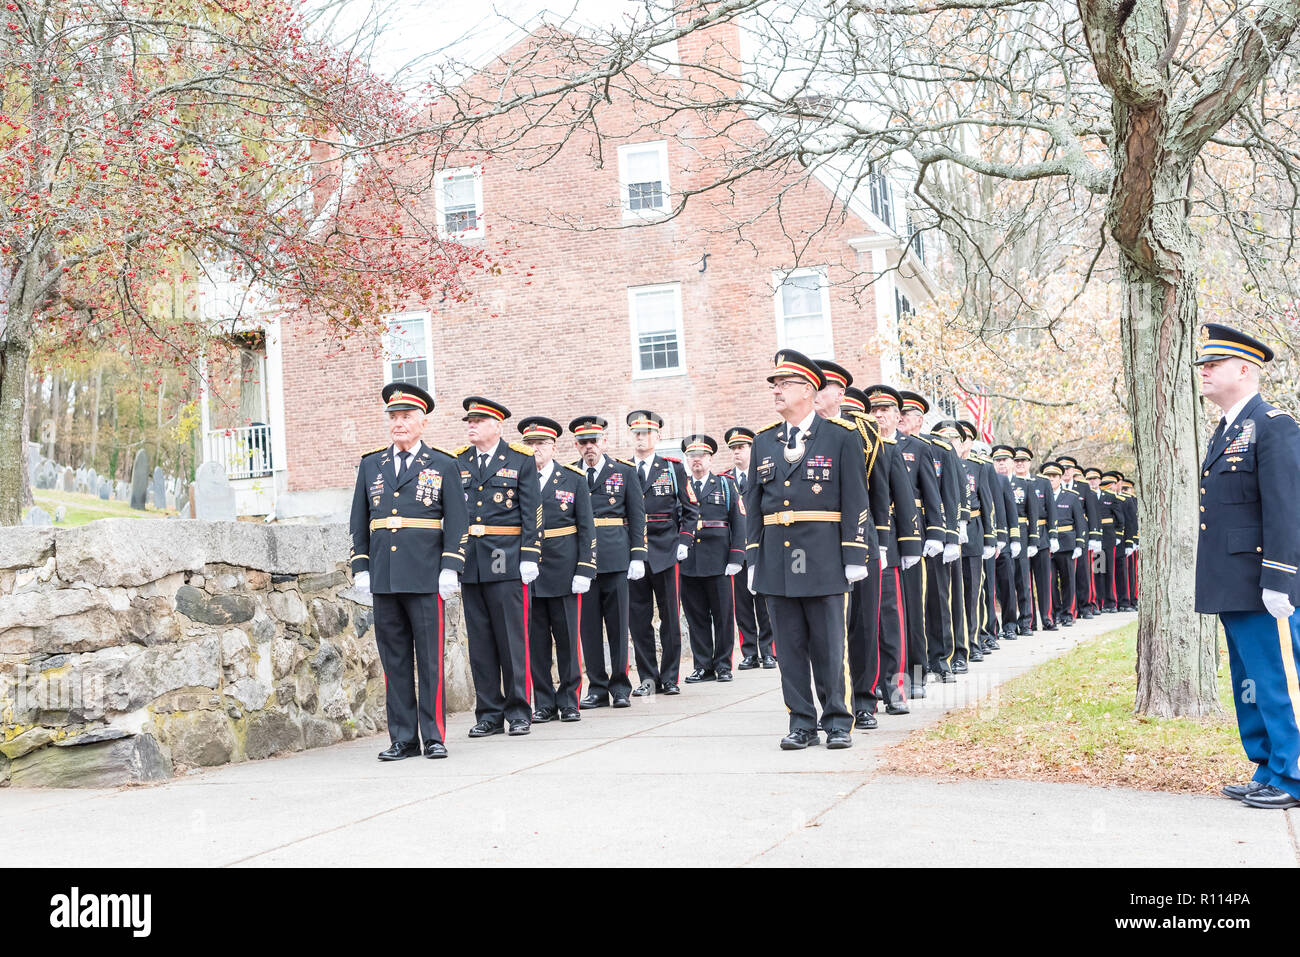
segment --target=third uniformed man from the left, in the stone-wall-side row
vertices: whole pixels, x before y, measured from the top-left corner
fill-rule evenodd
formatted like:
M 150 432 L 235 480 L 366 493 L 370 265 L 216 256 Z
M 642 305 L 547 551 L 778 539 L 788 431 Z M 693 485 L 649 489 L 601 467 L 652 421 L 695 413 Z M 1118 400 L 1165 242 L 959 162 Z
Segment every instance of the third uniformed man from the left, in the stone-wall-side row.
M 582 469 L 555 460 L 555 441 L 564 429 L 554 419 L 534 415 L 519 424 L 524 445 L 533 450 L 542 493 L 542 558 L 528 596 L 528 644 L 533 675 L 533 723 L 581 719 L 577 694 L 582 688 L 578 622 L 582 596 L 595 577 L 595 524 Z M 559 688 L 551 681 L 551 645 Z

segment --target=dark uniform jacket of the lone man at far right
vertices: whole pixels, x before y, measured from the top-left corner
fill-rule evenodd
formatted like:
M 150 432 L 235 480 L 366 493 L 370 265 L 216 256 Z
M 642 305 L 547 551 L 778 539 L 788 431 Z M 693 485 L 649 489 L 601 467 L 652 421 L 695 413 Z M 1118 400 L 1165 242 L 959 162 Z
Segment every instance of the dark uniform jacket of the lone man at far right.
M 1196 610 L 1264 611 L 1260 592 L 1300 605 L 1300 528 L 1264 514 L 1266 501 L 1294 498 L 1300 426 L 1256 395 L 1227 428 L 1214 430 L 1201 463 Z

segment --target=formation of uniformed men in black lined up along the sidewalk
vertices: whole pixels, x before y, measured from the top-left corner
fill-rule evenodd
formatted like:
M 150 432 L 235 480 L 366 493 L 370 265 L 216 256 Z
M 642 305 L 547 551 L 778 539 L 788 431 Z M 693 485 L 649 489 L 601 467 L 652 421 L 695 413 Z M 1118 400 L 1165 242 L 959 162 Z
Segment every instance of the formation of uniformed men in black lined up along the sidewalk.
M 966 421 L 927 434 L 922 395 L 855 389 L 841 365 L 789 350 L 770 382 L 781 420 L 728 429 L 725 472 L 710 436 L 682 442 L 685 462 L 658 455 L 663 419 L 649 410 L 628 415 L 632 458 L 612 458 L 608 424 L 584 415 L 568 423 L 580 458 L 560 464 L 558 421 L 524 419 L 523 443 L 507 442 L 510 411 L 482 397 L 464 400 L 469 445 L 443 451 L 420 439 L 433 399 L 386 386 L 393 443 L 363 458 L 352 508 L 352 571 L 374 596 L 387 680 L 393 746 L 380 757 L 419 754 L 421 740 L 446 755 L 442 606 L 456 592 L 471 737 L 680 693 L 680 609 L 688 684 L 732 680 L 737 629 L 738 670 L 780 654 L 783 748 L 819 729 L 849 746 L 878 705 L 907 713 L 927 679 L 957 680 L 998 638 L 1134 607 L 1122 475 L 1060 459 L 1034 477 L 1031 450 L 985 456 Z

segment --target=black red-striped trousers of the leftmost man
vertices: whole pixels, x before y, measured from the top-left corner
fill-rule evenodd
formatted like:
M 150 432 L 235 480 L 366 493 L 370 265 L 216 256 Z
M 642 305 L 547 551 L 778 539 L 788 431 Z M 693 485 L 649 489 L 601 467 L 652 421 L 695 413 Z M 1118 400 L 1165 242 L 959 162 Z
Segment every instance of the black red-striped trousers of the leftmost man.
M 374 596 L 374 644 L 384 666 L 389 739 L 393 744 L 443 740 L 447 719 L 442 627 L 442 599 L 437 594 Z

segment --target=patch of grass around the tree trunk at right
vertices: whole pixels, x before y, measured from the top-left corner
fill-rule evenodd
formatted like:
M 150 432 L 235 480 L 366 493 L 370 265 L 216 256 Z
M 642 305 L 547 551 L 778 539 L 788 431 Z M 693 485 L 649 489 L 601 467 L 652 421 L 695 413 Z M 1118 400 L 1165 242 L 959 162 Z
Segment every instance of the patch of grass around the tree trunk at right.
M 1011 679 L 996 701 L 954 711 L 893 748 L 902 774 L 1020 778 L 1182 793 L 1247 780 L 1236 733 L 1227 653 L 1209 718 L 1134 714 L 1138 625 L 1101 635 Z

